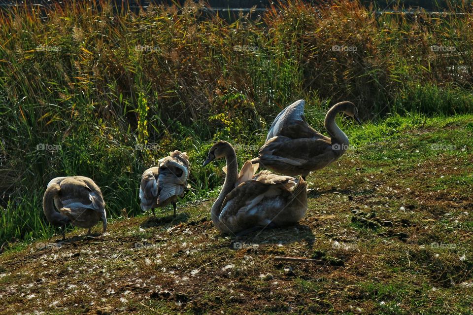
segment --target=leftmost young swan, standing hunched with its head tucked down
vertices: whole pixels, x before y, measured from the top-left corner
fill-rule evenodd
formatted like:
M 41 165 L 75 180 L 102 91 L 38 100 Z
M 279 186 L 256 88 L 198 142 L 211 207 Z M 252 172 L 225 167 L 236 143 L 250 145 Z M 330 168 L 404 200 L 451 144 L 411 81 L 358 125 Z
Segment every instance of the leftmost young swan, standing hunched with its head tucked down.
M 53 204 L 56 206 L 56 211 Z M 56 177 L 46 188 L 43 197 L 43 211 L 48 221 L 63 228 L 63 240 L 66 239 L 65 226 L 91 228 L 103 223 L 103 233 L 107 230 L 105 202 L 99 186 L 84 176 Z

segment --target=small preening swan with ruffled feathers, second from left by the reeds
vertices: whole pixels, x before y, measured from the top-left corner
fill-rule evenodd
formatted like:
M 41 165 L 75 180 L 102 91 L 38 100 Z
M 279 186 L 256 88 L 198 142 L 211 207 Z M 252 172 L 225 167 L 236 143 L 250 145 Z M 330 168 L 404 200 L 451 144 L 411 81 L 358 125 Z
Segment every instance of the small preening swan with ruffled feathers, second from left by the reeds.
M 141 209 L 151 209 L 155 214 L 155 208 L 172 203 L 175 216 L 177 197 L 183 197 L 184 189 L 188 188 L 189 169 L 189 157 L 186 152 L 175 150 L 159 160 L 157 167 L 144 171 L 139 188 Z

